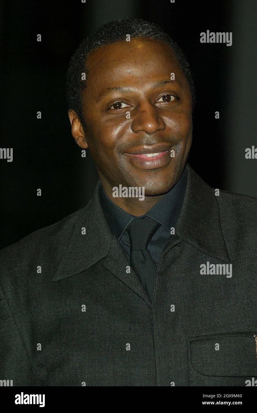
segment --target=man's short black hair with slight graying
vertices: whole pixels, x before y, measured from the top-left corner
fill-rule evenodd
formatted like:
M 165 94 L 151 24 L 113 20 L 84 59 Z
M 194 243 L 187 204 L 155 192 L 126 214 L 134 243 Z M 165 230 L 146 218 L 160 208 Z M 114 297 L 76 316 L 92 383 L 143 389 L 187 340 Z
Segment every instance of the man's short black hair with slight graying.
M 84 117 L 81 103 L 81 92 L 86 87 L 86 81 L 81 80 L 82 73 L 87 76 L 86 60 L 87 55 L 100 46 L 116 43 L 130 38 L 151 38 L 162 40 L 173 50 L 177 62 L 186 77 L 192 99 L 193 107 L 196 101 L 195 87 L 191 74 L 191 69 L 186 56 L 179 45 L 163 31 L 157 24 L 144 21 L 143 19 L 119 19 L 113 20 L 100 26 L 80 43 L 71 58 L 66 75 L 66 97 L 68 109 L 73 109 L 84 125 Z

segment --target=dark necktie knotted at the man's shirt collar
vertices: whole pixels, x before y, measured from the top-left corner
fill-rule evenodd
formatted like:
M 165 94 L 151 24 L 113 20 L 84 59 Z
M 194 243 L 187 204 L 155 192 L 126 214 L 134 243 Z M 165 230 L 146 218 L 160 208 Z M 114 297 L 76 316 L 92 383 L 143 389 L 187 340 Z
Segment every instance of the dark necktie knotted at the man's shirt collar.
M 156 263 L 147 246 L 159 226 L 160 224 L 152 218 L 134 219 L 127 226 L 130 237 L 130 264 L 150 299 L 153 294 Z

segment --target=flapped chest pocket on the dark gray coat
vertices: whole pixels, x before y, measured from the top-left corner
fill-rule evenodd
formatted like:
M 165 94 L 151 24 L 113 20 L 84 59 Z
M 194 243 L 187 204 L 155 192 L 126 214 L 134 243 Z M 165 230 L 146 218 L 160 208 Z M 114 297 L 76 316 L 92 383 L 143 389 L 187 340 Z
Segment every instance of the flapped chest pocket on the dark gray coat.
M 246 380 L 257 380 L 254 332 L 196 337 L 189 340 L 189 352 L 191 386 L 246 386 Z

